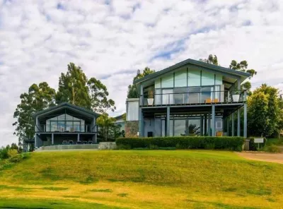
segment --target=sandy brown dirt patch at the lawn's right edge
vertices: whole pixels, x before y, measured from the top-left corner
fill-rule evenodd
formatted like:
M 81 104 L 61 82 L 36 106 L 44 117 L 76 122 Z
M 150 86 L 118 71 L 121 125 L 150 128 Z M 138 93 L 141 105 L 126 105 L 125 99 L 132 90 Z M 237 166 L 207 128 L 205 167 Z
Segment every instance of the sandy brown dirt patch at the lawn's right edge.
M 241 157 L 249 160 L 259 160 L 265 162 L 277 162 L 283 164 L 283 153 L 256 153 L 256 152 L 242 152 L 238 153 Z

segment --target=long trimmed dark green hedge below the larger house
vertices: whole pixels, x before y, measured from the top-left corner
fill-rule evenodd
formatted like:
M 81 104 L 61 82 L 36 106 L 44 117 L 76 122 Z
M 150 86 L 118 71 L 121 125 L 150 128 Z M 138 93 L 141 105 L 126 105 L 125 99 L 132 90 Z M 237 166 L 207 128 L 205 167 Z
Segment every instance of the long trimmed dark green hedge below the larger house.
M 177 149 L 207 149 L 207 150 L 236 150 L 243 148 L 243 137 L 212 137 L 212 136 L 176 136 L 148 138 L 117 138 L 118 148 L 168 148 Z

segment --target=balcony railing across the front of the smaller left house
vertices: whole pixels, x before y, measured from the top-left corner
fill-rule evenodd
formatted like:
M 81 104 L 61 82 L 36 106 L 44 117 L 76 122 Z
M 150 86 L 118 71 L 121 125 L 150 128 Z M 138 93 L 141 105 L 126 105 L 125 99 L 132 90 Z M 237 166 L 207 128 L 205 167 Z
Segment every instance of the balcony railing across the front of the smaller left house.
M 98 126 L 93 126 L 91 125 L 85 125 L 85 126 L 79 126 L 79 125 L 62 125 L 62 126 L 50 126 L 46 124 L 40 124 L 37 126 L 37 132 L 59 132 L 59 133 L 74 133 L 74 132 L 79 132 L 79 133 L 93 133 L 97 132 Z

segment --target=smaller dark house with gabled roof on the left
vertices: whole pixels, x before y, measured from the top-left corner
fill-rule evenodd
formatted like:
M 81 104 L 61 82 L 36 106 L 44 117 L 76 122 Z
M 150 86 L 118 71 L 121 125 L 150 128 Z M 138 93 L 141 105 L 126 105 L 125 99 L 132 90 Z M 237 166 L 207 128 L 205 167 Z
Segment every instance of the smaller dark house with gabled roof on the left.
M 64 102 L 33 115 L 35 148 L 42 145 L 62 145 L 63 141 L 97 142 L 96 118 L 91 110 Z

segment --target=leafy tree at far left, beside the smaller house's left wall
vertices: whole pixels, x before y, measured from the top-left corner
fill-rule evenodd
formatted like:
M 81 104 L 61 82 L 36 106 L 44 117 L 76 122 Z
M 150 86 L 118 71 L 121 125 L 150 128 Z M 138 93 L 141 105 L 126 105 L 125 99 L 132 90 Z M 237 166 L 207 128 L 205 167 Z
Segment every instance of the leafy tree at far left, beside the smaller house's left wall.
M 20 96 L 21 103 L 16 107 L 13 117 L 16 121 L 14 134 L 18 136 L 21 145 L 24 138 L 32 139 L 35 136 L 35 124 L 33 114 L 55 104 L 55 90 L 46 82 L 39 85 L 33 84 Z

